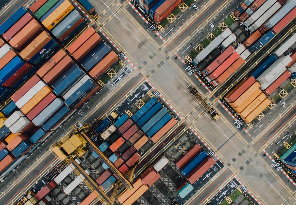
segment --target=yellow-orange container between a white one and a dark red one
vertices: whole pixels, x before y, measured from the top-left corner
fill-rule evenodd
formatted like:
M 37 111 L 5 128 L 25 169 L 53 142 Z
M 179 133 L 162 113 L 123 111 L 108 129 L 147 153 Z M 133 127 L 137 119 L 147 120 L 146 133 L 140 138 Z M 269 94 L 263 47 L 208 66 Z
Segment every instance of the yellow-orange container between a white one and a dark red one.
M 40 101 L 42 101 L 52 89 L 49 86 L 43 87 L 37 94 L 35 94 L 22 108 L 24 114 L 28 114 Z

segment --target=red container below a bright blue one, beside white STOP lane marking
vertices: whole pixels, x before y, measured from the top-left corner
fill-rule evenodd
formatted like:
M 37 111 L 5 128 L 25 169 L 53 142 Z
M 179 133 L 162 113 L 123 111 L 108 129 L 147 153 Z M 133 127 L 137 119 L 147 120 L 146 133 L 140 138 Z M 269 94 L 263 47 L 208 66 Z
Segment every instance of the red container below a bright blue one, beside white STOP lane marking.
M 216 161 L 208 156 L 203 162 L 200 163 L 200 165 L 197 166 L 188 176 L 187 179 L 190 182 L 190 184 L 193 184 L 196 182 L 197 179 L 199 179 L 204 173 L 209 170 Z

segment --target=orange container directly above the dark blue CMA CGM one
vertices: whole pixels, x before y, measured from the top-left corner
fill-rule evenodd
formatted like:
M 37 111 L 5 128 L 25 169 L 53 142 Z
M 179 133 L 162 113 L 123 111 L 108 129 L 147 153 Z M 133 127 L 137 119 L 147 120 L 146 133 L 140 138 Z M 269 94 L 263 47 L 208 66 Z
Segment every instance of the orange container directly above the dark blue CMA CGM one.
M 30 60 L 35 54 L 48 43 L 52 37 L 46 31 L 42 31 L 37 38 L 35 38 L 19 55 L 25 59 Z

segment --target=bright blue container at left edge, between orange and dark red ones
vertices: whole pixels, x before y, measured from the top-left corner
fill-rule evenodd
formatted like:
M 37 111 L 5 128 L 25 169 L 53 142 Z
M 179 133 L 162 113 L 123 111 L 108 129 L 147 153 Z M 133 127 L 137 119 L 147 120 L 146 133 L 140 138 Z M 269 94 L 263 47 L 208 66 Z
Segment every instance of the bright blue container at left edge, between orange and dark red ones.
M 4 84 L 25 62 L 18 56 L 15 56 L 9 63 L 0 70 L 0 85 Z

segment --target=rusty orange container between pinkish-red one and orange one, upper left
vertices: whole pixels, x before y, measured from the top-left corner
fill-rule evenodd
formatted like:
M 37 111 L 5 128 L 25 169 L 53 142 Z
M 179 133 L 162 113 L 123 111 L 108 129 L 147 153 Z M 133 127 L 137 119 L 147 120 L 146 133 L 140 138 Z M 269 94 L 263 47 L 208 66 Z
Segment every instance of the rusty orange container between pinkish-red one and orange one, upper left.
M 15 49 L 22 50 L 31 43 L 41 32 L 42 26 L 32 19 L 22 30 L 20 30 L 8 43 Z

